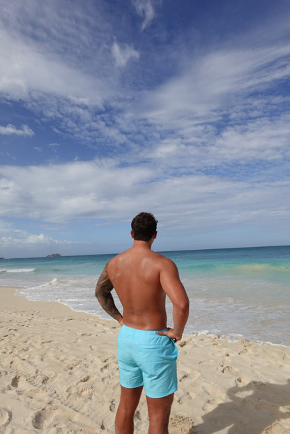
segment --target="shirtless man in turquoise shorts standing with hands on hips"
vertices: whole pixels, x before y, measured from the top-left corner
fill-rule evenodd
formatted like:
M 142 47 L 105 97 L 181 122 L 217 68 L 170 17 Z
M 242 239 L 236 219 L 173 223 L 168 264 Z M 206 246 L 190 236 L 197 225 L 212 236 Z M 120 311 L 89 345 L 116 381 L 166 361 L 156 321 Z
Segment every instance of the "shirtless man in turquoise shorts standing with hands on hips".
M 134 432 L 134 414 L 144 386 L 148 434 L 168 434 L 169 415 L 177 390 L 175 345 L 188 320 L 189 301 L 174 262 L 151 250 L 157 232 L 152 214 L 140 213 L 131 223 L 129 250 L 105 265 L 96 286 L 102 308 L 121 324 L 118 362 L 121 399 L 116 434 Z M 114 304 L 115 288 L 123 315 Z M 165 297 L 173 306 L 173 329 L 167 327 Z

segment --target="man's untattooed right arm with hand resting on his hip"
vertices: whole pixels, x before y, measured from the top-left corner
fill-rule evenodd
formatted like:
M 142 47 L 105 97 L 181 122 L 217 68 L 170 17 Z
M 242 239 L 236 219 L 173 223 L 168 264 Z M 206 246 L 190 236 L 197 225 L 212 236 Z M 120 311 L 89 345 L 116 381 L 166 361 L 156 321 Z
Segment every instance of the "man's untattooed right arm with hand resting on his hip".
M 174 341 L 180 341 L 185 324 L 188 321 L 190 301 L 179 278 L 176 264 L 171 260 L 166 260 L 162 264 L 160 284 L 172 303 L 174 328 L 167 331 L 158 331 L 158 334 L 165 334 Z

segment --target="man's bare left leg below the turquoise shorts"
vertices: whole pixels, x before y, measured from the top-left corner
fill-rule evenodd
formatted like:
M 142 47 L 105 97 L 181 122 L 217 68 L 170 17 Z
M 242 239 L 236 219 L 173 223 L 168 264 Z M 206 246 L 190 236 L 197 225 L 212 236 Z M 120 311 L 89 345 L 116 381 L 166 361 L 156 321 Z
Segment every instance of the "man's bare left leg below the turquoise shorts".
M 142 394 L 143 386 L 127 389 L 121 386 L 121 398 L 116 412 L 116 434 L 134 433 L 134 414 Z

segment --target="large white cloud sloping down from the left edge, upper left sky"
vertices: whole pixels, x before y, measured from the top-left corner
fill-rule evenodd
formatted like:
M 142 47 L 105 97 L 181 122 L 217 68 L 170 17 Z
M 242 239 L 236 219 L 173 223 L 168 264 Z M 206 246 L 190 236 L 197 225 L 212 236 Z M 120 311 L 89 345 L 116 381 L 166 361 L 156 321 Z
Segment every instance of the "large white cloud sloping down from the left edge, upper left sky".
M 106 91 L 97 77 L 68 66 L 57 55 L 40 52 L 32 41 L 13 38 L 3 29 L 0 38 L 0 91 L 7 98 L 25 100 L 51 93 L 79 103 L 87 98 L 102 106 Z

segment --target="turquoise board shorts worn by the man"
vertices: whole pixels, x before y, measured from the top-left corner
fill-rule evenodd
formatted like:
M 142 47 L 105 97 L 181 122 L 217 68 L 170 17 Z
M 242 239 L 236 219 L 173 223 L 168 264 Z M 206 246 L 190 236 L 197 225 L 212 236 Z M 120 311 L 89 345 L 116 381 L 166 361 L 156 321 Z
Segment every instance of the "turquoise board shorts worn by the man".
M 123 325 L 117 349 L 121 386 L 134 389 L 144 385 L 149 398 L 162 398 L 177 390 L 178 349 L 171 338 L 156 330 Z

